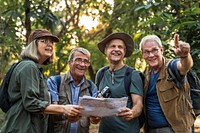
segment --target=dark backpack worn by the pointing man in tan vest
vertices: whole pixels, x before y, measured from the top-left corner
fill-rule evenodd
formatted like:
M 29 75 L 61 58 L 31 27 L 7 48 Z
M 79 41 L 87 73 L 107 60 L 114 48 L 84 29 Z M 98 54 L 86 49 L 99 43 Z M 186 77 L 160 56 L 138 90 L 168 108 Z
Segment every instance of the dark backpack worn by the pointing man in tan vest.
M 174 60 L 169 61 L 167 65 L 170 79 L 176 84 L 177 88 L 183 91 L 183 94 L 185 95 L 183 84 L 181 84 L 181 82 L 175 77 L 171 70 L 172 67 L 170 66 L 172 65 L 173 61 Z M 193 71 L 192 69 L 187 72 L 187 80 L 190 85 L 190 98 L 192 100 L 193 110 L 195 112 L 195 115 L 197 116 L 200 114 L 200 80 L 195 71 Z

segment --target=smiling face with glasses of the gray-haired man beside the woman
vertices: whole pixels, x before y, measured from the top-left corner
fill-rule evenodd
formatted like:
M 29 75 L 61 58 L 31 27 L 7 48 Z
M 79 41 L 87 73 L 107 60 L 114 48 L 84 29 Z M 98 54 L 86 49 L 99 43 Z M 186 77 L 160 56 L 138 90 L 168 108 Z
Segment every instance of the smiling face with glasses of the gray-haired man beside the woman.
M 82 78 L 90 66 L 90 57 L 82 52 L 75 52 L 73 58 L 68 62 L 70 67 L 70 73 L 73 78 Z

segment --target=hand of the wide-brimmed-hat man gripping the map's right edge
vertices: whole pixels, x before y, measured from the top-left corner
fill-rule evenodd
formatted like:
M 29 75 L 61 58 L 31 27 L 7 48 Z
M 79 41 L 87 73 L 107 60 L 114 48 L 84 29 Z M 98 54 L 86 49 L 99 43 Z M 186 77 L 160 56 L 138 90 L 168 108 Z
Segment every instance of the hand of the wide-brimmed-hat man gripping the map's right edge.
M 122 117 L 124 120 L 129 121 L 134 118 L 133 110 L 129 108 L 122 108 L 117 116 Z

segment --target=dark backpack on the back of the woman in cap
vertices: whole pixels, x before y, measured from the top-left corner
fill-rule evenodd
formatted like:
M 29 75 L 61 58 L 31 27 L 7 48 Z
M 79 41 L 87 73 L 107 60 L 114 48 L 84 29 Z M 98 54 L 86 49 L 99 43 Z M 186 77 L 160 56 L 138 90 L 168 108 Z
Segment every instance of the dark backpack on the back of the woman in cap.
M 6 76 L 1 84 L 0 89 L 0 108 L 3 112 L 7 112 L 10 107 L 12 106 L 12 103 L 8 99 L 8 86 L 10 82 L 10 77 L 12 75 L 13 70 L 20 62 L 14 63 L 11 68 L 6 73 Z

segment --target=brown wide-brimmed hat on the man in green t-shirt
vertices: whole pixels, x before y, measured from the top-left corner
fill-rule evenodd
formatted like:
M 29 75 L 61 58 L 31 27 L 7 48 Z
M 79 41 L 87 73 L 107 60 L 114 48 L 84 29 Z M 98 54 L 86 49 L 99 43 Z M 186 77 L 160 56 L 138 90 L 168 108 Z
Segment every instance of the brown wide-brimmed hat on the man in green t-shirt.
M 125 43 L 126 54 L 124 57 L 129 57 L 134 50 L 134 42 L 130 35 L 126 33 L 113 33 L 104 38 L 100 43 L 98 43 L 99 50 L 105 54 L 106 45 L 113 39 L 120 39 Z

